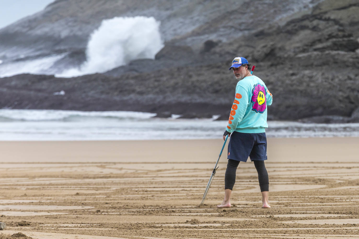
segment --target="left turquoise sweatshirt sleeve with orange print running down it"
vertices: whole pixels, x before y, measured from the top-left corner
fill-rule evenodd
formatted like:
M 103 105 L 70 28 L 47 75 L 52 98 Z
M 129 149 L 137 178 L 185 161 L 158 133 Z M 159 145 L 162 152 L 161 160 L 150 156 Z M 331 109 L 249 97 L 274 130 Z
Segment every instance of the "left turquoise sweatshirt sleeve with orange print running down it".
M 246 113 L 248 101 L 247 91 L 240 85 L 236 87 L 236 97 L 234 98 L 232 109 L 229 115 L 229 121 L 226 130 L 232 133 L 241 122 Z

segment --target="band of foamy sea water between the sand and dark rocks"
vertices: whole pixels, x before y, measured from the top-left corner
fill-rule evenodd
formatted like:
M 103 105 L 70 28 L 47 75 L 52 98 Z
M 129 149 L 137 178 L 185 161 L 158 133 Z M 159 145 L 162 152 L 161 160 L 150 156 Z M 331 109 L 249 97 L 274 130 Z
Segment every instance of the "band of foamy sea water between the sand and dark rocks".
M 131 111 L 0 110 L 0 141 L 222 138 L 226 120 L 163 119 Z M 359 137 L 359 123 L 268 121 L 268 138 Z

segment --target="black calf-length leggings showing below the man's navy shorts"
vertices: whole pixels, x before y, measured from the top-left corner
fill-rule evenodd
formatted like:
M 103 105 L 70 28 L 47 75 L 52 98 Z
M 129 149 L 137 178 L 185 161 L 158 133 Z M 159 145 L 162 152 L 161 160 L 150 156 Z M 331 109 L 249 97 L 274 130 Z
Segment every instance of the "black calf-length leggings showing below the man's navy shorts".
M 228 159 L 227 169 L 224 177 L 224 189 L 233 190 L 236 182 L 236 171 L 240 161 Z M 261 192 L 269 191 L 269 178 L 264 161 L 253 160 L 254 166 L 257 169 L 259 186 Z

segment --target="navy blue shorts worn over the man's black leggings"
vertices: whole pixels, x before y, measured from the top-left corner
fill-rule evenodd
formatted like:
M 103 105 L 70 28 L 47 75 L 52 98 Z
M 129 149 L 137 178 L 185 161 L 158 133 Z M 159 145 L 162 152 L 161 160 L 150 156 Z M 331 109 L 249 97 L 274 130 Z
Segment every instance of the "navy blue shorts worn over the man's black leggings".
M 266 133 L 240 133 L 234 131 L 229 138 L 228 159 L 247 162 L 267 159 L 267 137 Z

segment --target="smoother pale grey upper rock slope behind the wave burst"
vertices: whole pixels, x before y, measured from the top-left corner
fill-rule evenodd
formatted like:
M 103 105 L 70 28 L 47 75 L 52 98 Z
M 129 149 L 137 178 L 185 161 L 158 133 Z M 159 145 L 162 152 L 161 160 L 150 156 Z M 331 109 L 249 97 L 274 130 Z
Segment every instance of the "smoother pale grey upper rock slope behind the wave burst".
M 101 21 L 116 16 L 154 16 L 163 39 L 200 47 L 208 39 L 227 41 L 255 31 L 272 18 L 312 6 L 310 0 L 272 1 L 76 1 L 57 0 L 43 11 L 0 30 L 0 50 L 8 59 L 84 50 Z M 176 38 L 176 39 L 174 39 Z M 14 48 L 15 47 L 15 48 Z M 15 51 L 14 51 L 15 49 Z

